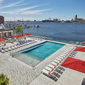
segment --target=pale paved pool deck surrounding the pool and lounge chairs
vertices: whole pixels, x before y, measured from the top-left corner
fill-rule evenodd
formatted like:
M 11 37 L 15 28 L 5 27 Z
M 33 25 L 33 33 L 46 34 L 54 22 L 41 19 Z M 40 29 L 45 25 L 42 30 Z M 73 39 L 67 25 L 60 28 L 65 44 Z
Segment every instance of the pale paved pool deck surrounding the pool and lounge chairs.
M 44 69 L 48 64 L 55 60 L 55 58 L 61 55 L 61 53 L 63 53 L 68 47 L 74 47 L 75 45 L 64 45 L 35 67 L 31 67 L 10 56 L 10 53 L 33 46 L 45 40 L 36 41 L 37 42 L 35 43 L 23 46 L 13 51 L 5 53 L 0 52 L 0 73 L 7 75 L 10 80 L 10 85 L 81 85 L 85 74 L 69 68 L 64 67 L 65 71 L 63 71 L 63 74 L 61 74 L 57 82 L 41 73 L 42 69 Z M 85 61 L 85 53 L 77 52 L 74 58 Z

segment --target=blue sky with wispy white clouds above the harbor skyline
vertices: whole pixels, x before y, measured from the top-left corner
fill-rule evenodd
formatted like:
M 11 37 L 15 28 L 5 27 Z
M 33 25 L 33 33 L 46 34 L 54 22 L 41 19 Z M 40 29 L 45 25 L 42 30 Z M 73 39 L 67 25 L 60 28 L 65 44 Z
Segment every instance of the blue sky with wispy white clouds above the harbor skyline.
M 5 21 L 85 19 L 85 0 L 0 0 L 0 15 Z

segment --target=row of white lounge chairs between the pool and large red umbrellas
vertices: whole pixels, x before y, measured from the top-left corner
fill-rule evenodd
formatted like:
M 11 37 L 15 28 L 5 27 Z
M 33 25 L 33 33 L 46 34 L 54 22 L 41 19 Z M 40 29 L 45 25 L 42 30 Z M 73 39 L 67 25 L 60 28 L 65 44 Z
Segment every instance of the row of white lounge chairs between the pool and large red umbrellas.
M 65 52 L 63 52 L 60 56 L 53 60 L 51 64 L 46 66 L 45 69 L 42 70 L 42 73 L 50 77 L 52 80 L 57 81 L 60 77 L 59 74 L 62 74 L 62 71 L 59 71 L 58 68 L 62 64 L 62 62 L 68 57 L 69 53 L 72 50 L 72 47 L 68 48 Z

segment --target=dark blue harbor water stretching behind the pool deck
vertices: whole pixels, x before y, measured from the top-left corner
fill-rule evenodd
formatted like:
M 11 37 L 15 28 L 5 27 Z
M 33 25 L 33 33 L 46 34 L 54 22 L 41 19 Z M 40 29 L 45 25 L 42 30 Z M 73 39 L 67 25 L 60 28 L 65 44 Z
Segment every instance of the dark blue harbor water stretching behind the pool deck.
M 30 25 L 38 24 L 40 27 L 23 29 L 23 33 L 35 36 L 48 37 L 63 41 L 85 41 L 85 23 L 60 23 L 60 22 L 16 22 Z

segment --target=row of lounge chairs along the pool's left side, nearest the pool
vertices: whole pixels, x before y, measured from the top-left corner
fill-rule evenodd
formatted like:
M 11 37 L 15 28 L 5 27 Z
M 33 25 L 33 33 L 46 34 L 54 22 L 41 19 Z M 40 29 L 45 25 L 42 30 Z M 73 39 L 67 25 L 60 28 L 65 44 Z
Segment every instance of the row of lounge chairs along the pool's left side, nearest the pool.
M 35 42 L 34 40 L 26 40 L 26 41 L 23 41 L 23 42 L 19 42 L 17 44 L 13 44 L 13 45 L 11 45 L 9 47 L 0 48 L 0 51 L 2 53 L 5 53 L 5 52 L 17 49 L 19 47 L 22 47 L 22 46 L 25 46 L 27 44 L 34 43 L 34 42 Z

